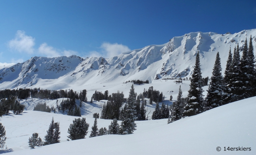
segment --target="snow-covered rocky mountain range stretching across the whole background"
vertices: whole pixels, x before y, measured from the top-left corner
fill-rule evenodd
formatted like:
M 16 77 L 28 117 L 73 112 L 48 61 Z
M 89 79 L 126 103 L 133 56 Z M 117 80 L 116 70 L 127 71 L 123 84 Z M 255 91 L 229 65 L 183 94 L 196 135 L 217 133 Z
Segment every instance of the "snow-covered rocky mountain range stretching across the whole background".
M 56 58 L 32 57 L 11 67 L 0 68 L 0 88 L 64 89 L 94 83 L 125 82 L 190 77 L 195 65 L 196 52 L 200 52 L 203 77 L 211 76 L 216 53 L 220 52 L 224 72 L 229 47 L 233 52 L 239 43 L 240 51 L 245 39 L 253 38 L 256 29 L 235 34 L 191 32 L 174 37 L 163 45 L 150 45 L 122 53 L 110 59 L 72 55 Z M 254 50 L 255 53 L 256 50 Z

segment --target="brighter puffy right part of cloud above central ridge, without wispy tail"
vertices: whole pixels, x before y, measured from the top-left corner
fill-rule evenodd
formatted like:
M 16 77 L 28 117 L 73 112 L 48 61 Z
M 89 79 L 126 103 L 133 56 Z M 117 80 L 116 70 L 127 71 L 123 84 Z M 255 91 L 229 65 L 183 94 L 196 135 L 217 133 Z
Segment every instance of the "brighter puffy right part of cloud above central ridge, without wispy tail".
M 113 58 L 114 56 L 117 56 L 121 53 L 131 51 L 128 46 L 122 45 L 122 44 L 111 44 L 111 43 L 103 43 L 100 48 L 102 48 L 104 55 L 106 58 Z

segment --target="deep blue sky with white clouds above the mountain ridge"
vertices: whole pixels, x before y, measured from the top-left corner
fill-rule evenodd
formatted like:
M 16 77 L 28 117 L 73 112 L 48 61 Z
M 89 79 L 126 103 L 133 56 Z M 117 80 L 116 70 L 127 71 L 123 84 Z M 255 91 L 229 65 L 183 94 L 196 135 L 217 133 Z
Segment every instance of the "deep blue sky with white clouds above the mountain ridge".
M 0 65 L 33 56 L 113 57 L 189 32 L 256 28 L 256 1 L 1 0 Z

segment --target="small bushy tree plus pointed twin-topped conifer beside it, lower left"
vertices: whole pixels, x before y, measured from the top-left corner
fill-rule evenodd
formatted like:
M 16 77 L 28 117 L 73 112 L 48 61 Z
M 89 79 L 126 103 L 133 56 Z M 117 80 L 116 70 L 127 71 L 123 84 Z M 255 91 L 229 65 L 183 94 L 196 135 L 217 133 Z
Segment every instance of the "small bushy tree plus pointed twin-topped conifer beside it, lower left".
M 60 123 L 55 122 L 52 117 L 52 122 L 49 125 L 49 129 L 46 131 L 47 134 L 44 136 L 44 142 L 40 137 L 38 137 L 38 133 L 33 133 L 32 137 L 28 139 L 28 145 L 31 149 L 34 149 L 35 146 L 43 146 L 49 144 L 60 143 Z

